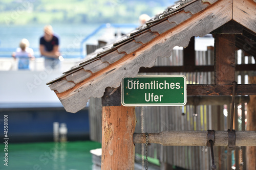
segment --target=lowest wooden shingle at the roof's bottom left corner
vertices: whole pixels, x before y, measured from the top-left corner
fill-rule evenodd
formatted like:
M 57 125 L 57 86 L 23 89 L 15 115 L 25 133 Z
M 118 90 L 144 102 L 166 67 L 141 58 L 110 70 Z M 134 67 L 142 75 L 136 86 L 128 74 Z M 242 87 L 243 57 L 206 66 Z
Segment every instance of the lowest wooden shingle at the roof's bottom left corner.
M 72 87 L 74 87 L 76 84 L 74 82 L 68 82 L 66 79 L 60 80 L 56 83 L 51 84 L 49 87 L 51 90 L 58 91 L 58 93 L 62 93 Z

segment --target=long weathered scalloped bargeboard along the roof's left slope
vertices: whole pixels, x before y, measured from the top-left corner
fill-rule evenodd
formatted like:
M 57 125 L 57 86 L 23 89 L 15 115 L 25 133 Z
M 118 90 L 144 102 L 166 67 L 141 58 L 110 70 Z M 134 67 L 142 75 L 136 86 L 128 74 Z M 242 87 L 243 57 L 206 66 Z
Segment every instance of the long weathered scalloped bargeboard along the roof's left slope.
M 57 94 L 58 98 L 67 111 L 79 111 L 86 106 L 91 96 L 101 97 L 105 87 L 119 87 L 123 77 L 136 77 L 140 67 L 152 67 L 159 56 L 169 57 L 174 46 L 187 46 L 191 37 L 204 36 L 231 20 L 231 7 L 229 1 L 218 1 L 208 10 L 202 11 L 201 15 L 195 15 L 193 19 L 175 27 L 172 32 L 157 36 L 135 54 L 125 55 L 81 84 Z

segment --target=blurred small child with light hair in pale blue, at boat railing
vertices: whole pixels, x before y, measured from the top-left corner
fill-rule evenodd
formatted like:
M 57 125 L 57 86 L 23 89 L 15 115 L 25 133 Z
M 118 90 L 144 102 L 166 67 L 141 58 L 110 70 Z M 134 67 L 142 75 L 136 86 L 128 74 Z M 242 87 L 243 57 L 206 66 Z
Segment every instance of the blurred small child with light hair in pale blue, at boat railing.
M 24 38 L 20 41 L 16 52 L 12 53 L 14 59 L 18 58 L 18 69 L 30 69 L 29 60 L 34 59 L 34 51 L 29 47 L 29 41 Z

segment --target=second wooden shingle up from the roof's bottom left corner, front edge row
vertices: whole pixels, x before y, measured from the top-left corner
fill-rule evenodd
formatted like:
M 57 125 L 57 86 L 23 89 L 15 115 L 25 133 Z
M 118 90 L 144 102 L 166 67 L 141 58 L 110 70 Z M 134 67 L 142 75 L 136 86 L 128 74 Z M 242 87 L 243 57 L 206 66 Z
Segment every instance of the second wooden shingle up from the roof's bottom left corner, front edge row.
M 84 69 L 80 69 L 76 72 L 73 72 L 71 75 L 68 75 L 66 79 L 68 81 L 73 81 L 75 84 L 89 78 L 92 76 L 92 73 L 90 71 L 86 71 Z

